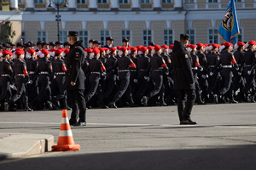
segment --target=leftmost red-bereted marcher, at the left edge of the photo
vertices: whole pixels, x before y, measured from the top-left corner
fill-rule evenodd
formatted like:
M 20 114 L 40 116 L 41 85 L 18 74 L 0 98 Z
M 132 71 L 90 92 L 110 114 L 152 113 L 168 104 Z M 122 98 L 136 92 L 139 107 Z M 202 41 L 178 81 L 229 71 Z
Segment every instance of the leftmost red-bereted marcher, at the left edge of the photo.
M 11 82 L 13 69 L 8 61 L 10 54 L 11 54 L 11 51 L 9 50 L 3 51 L 3 57 L 2 57 L 3 60 L 0 61 L 0 88 L 1 88 L 0 104 L 2 104 L 4 101 L 6 101 L 8 104 L 11 98 L 11 89 L 9 85 Z

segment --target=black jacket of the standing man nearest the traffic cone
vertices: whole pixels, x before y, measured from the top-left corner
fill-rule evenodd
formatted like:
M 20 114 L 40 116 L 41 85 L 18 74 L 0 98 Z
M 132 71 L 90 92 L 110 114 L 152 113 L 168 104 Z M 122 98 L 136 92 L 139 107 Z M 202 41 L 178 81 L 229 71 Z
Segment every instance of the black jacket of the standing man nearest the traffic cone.
M 65 89 L 82 89 L 84 90 L 84 71 L 82 64 L 84 63 L 84 44 L 82 41 L 75 42 L 67 54 L 67 71 L 65 80 Z M 75 86 L 71 86 L 70 82 L 75 82 Z

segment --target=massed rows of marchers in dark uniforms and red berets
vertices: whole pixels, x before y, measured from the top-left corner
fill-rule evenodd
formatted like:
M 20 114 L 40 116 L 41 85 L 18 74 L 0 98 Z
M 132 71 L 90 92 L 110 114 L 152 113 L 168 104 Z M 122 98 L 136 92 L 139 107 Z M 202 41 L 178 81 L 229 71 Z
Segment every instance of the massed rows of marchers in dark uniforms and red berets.
M 114 47 L 113 41 L 108 37 L 103 47 L 91 39 L 90 47 L 84 48 L 86 107 L 175 105 L 173 45 L 150 42 L 135 48 L 123 39 L 122 46 Z M 68 42 L 6 42 L 0 48 L 2 111 L 71 109 L 63 86 Z M 254 103 L 255 48 L 255 41 L 234 47 L 230 42 L 189 44 L 197 104 Z

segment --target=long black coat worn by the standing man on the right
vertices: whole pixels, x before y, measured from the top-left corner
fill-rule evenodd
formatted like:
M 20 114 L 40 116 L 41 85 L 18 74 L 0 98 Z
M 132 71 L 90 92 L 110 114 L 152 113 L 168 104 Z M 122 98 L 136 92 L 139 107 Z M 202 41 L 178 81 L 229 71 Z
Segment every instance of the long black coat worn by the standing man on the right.
M 191 60 L 189 52 L 181 42 L 174 42 L 172 48 L 172 64 L 175 68 L 174 88 L 175 89 L 195 89 L 193 72 L 191 70 Z

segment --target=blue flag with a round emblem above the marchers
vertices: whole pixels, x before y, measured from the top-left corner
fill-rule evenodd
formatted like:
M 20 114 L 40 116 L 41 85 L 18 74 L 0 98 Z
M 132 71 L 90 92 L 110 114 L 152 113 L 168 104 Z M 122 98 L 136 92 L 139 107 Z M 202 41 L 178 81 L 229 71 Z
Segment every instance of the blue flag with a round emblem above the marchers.
M 235 0 L 230 0 L 228 8 L 224 14 L 219 28 L 218 35 L 224 39 L 225 42 L 236 43 L 236 35 L 240 34 L 238 21 L 236 18 Z

